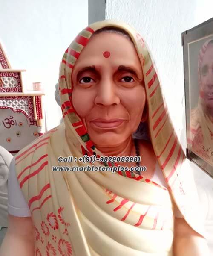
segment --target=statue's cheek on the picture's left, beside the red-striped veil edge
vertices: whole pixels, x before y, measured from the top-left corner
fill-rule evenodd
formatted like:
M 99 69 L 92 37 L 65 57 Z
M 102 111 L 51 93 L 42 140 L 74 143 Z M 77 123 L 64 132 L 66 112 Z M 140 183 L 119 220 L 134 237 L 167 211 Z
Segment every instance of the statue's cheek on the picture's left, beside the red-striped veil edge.
M 73 89 L 72 104 L 77 114 L 84 118 L 88 115 L 93 106 L 93 95 L 86 90 Z

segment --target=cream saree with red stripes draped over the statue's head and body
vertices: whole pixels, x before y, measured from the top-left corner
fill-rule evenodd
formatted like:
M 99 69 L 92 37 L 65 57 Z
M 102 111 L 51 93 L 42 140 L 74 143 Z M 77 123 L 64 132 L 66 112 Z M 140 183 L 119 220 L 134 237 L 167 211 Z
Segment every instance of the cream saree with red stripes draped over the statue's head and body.
M 60 163 L 59 156 L 102 155 L 72 107 L 70 78 L 90 36 L 104 26 L 124 29 L 135 44 L 147 91 L 150 140 L 168 188 L 130 172 L 52 171 L 52 166 L 88 165 L 78 161 Z M 16 156 L 17 178 L 35 224 L 35 255 L 171 256 L 174 202 L 187 223 L 203 234 L 193 176 L 141 36 L 121 22 L 90 25 L 66 50 L 59 85 L 64 123 Z

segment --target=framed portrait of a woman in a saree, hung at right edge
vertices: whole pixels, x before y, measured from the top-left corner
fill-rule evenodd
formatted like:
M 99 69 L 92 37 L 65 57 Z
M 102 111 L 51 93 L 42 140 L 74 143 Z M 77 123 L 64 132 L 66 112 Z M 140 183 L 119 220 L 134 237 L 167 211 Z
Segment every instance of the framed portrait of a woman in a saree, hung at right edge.
M 182 33 L 187 158 L 213 177 L 213 18 Z

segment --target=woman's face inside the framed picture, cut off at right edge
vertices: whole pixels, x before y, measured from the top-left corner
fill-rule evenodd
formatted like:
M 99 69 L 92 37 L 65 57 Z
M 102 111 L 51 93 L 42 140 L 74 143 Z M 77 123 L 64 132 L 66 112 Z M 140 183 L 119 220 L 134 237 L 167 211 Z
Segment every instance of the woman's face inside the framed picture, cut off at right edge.
M 208 108 L 213 109 L 213 44 L 207 46 L 201 65 L 201 85 L 204 101 Z

